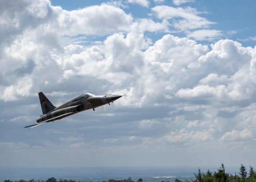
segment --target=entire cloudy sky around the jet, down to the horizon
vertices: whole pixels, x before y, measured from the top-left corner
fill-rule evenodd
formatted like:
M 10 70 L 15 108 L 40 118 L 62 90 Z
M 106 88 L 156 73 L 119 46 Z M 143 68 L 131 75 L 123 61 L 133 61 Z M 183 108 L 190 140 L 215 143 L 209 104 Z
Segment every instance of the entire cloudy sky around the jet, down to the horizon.
M 256 1 L 1 0 L 0 167 L 256 168 Z M 127 94 L 32 129 L 38 92 Z M 196 171 L 195 171 L 196 172 Z

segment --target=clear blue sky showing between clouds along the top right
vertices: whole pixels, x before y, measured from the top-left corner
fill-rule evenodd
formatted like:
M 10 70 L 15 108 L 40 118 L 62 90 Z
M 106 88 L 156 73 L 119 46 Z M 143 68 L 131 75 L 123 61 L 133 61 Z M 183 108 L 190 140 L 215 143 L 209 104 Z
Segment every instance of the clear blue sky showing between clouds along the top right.
M 101 3 L 105 3 L 106 1 L 75 1 L 75 3 L 71 3 L 69 1 L 53 0 L 51 2 L 52 5 L 61 6 L 65 10 L 72 11 L 86 6 L 99 5 Z M 159 4 L 159 2 L 154 1 L 148 2 L 149 7 L 143 7 L 139 3 L 130 3 L 128 6 L 128 2 L 123 1 L 123 3 L 127 5 L 127 7 L 125 7 L 123 10 L 126 13 L 132 13 L 134 18 L 146 18 L 148 14 L 151 13 L 151 8 Z M 173 3 L 173 1 L 163 1 L 161 4 L 174 7 L 177 6 L 175 3 Z M 238 40 L 245 47 L 255 46 L 254 17 L 256 16 L 256 3 L 253 0 L 246 0 L 243 2 L 197 0 L 186 2 L 182 6 L 191 6 L 196 8 L 199 12 L 204 12 L 203 17 L 212 22 L 216 22 L 216 24 L 212 25 L 211 27 L 223 31 L 223 36 L 221 38 Z M 182 32 L 177 35 L 184 36 Z M 157 40 L 159 36 L 162 36 L 162 34 L 159 35 L 154 33 L 154 35 L 151 36 L 153 40 Z M 251 37 L 251 39 L 249 37 Z M 253 40 L 252 37 L 254 37 Z

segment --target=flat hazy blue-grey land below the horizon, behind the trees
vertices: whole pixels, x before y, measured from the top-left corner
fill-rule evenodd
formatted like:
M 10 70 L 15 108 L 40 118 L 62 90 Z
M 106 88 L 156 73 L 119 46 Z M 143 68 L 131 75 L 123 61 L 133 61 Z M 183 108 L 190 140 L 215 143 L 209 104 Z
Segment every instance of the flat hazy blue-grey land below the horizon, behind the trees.
M 217 171 L 219 167 L 200 167 L 202 172 L 207 169 Z M 109 179 L 123 180 L 131 177 L 133 181 L 139 178 L 144 182 L 161 182 L 195 179 L 194 173 L 198 172 L 198 167 L 63 167 L 63 168 L 26 168 L 26 167 L 0 167 L 0 181 L 21 179 L 29 181 L 46 181 L 54 177 L 57 180 L 75 181 L 108 181 Z M 239 171 L 239 167 L 227 167 L 226 171 L 234 174 Z

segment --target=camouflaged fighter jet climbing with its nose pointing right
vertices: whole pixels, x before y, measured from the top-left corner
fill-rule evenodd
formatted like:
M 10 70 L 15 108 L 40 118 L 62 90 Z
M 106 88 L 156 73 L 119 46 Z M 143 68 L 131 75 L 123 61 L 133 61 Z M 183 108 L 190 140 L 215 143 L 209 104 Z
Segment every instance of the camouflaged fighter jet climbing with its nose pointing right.
M 43 94 L 43 92 L 39 92 L 38 96 L 42 107 L 43 115 L 37 118 L 37 124 L 32 124 L 26 127 L 33 128 L 35 126 L 39 126 L 40 124 L 62 119 L 88 109 L 93 109 L 95 111 L 96 107 L 105 104 L 110 105 L 111 102 L 117 100 L 124 95 L 95 95 L 93 93 L 83 93 L 71 99 L 70 101 L 60 105 L 59 107 L 55 107 Z

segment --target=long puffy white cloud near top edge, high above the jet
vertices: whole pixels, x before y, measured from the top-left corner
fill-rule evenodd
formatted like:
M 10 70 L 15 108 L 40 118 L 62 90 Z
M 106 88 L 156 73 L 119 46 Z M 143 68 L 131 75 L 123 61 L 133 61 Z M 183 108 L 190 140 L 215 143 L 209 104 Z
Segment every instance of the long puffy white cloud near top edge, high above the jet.
M 108 4 L 89 6 L 71 12 L 56 7 L 54 10 L 58 16 L 57 24 L 52 25 L 53 28 L 62 29 L 63 31 L 60 33 L 69 36 L 78 34 L 104 35 L 111 32 L 127 31 L 133 20 L 119 7 Z M 56 25 L 57 27 L 55 27 Z M 74 26 L 76 29 L 72 28 Z

